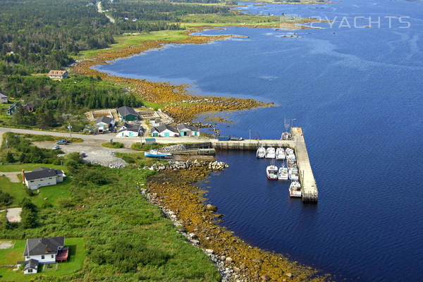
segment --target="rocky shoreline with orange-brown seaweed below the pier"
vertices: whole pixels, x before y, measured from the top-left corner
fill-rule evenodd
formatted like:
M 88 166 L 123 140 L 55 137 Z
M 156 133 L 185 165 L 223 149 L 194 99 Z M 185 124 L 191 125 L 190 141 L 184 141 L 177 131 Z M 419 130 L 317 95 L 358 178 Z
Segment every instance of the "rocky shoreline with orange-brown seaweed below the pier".
M 218 207 L 207 202 L 204 190 L 192 185 L 209 176 L 213 165 L 208 161 L 191 163 L 188 168 L 182 164 L 176 169 L 172 168 L 175 164 L 168 165 L 150 176 L 147 187 L 139 183 L 138 188 L 173 221 L 178 233 L 212 259 L 222 281 L 331 281 L 330 276 L 311 267 L 252 247 L 219 226 L 223 215 L 216 213 Z M 219 166 L 225 165 L 220 163 Z

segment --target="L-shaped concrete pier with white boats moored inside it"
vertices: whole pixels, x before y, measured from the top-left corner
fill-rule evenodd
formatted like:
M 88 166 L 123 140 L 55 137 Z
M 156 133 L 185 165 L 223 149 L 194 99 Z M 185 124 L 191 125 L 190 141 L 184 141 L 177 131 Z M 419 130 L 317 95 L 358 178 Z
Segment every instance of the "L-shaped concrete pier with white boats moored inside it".
M 302 202 L 317 202 L 319 191 L 314 180 L 312 166 L 310 165 L 307 147 L 305 146 L 302 128 L 292 128 L 292 140 L 243 140 L 243 141 L 218 141 L 212 140 L 215 149 L 257 150 L 263 147 L 289 147 L 294 149 L 297 159 L 298 175 L 301 183 Z

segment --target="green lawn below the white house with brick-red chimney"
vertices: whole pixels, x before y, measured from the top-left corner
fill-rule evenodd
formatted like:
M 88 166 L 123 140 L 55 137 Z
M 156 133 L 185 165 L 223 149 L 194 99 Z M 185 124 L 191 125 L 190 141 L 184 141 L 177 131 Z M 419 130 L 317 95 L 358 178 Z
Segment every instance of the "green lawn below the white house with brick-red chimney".
M 19 176 L 19 179 L 22 178 Z M 13 202 L 9 204 L 8 207 L 19 207 L 20 202 L 25 197 L 30 197 L 37 207 L 41 207 L 44 202 L 49 202 L 52 205 L 55 205 L 57 199 L 61 197 L 69 197 L 69 187 L 71 186 L 71 182 L 71 179 L 66 178 L 63 183 L 39 188 L 39 193 L 35 190 L 35 195 L 30 197 L 27 194 L 26 186 L 22 183 L 11 183 L 6 176 L 0 176 L 1 191 L 7 192 L 13 198 Z M 44 198 L 47 198 L 47 200 L 44 200 Z M 0 206 L 0 208 L 4 207 Z

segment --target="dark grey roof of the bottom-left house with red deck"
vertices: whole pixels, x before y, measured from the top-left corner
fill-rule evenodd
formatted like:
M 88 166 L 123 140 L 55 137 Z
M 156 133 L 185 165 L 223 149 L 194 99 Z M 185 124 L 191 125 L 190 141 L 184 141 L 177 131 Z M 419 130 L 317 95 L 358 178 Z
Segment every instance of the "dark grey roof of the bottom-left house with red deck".
M 64 237 L 27 239 L 23 256 L 56 254 L 58 247 L 65 245 Z

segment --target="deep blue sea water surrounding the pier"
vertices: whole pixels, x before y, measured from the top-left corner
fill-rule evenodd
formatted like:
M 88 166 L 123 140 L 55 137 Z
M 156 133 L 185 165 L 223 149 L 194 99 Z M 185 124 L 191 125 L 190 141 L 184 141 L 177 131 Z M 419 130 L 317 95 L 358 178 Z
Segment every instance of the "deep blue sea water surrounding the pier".
M 230 167 L 202 187 L 223 225 L 248 242 L 350 281 L 423 280 L 423 2 L 348 0 L 266 5 L 247 13 L 327 16 L 332 28 L 281 31 L 228 27 L 245 35 L 171 45 L 102 71 L 189 82 L 197 94 L 253 97 L 278 106 L 225 114 L 223 134 L 277 138 L 283 118 L 302 126 L 319 204 L 290 200 L 264 176 L 268 161 L 218 154 Z M 343 17 L 381 16 L 381 27 L 341 27 Z M 409 16 L 410 28 L 384 16 Z M 344 20 L 345 24 L 345 20 Z M 362 20 L 357 24 L 364 25 Z M 283 38 L 281 35 L 298 38 Z

